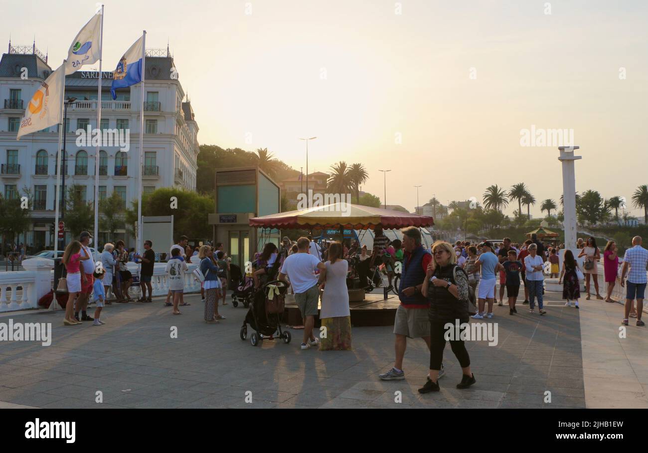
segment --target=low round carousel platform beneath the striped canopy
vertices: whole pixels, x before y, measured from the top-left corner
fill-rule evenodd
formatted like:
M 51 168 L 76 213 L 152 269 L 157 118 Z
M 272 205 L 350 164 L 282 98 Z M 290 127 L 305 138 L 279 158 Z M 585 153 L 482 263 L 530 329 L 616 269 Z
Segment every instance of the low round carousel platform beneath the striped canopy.
M 383 294 L 365 294 L 365 299 L 358 302 L 349 302 L 351 307 L 351 326 L 393 326 L 396 309 L 400 301 L 394 294 L 389 294 L 387 299 Z M 286 294 L 283 322 L 289 326 L 303 324 L 301 313 L 295 303 L 293 294 Z M 318 313 L 321 310 L 321 300 L 318 304 Z M 315 326 L 319 327 L 319 316 L 316 316 Z

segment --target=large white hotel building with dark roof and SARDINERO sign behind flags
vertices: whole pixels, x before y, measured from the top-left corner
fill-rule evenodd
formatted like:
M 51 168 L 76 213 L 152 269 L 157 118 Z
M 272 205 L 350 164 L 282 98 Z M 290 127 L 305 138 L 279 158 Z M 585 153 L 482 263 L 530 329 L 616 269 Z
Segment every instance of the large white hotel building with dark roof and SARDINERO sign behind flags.
M 104 61 L 106 65 L 110 62 Z M 25 80 L 21 78 L 23 68 L 29 76 Z M 196 189 L 198 124 L 191 104 L 183 102 L 185 91 L 177 75 L 172 78 L 172 68 L 175 65 L 168 49 L 146 50 L 144 192 L 162 187 Z M 10 43 L 0 60 L 0 191 L 5 198 L 19 197 L 25 188 L 31 191 L 34 208 L 26 243 L 36 249 L 53 246 L 58 126 L 19 141 L 16 134 L 27 103 L 53 69 L 35 45 Z M 119 151 L 119 144 L 100 149 L 99 198 L 117 192 L 124 206 L 131 208 L 131 201 L 138 196 L 141 85 L 117 90 L 117 100 L 113 100 L 112 72 L 104 71 L 102 78 L 100 129 L 130 129 L 130 151 Z M 96 71 L 77 71 L 65 78 L 65 99 L 75 97 L 76 102 L 67 107 L 67 168 L 62 175 L 66 191 L 76 184 L 87 201 L 95 197 L 96 147 L 76 146 L 75 131 L 88 125 L 97 127 L 97 83 Z M 117 236 L 124 238 L 124 232 Z M 98 239 L 95 243 L 102 244 L 108 237 L 102 234 Z

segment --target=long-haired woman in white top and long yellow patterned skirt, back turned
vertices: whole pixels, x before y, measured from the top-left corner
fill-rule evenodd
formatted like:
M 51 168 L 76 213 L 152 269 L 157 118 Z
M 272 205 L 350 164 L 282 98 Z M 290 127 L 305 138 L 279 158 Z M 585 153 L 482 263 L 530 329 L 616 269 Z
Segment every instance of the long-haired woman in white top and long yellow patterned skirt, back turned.
M 347 274 L 349 261 L 342 258 L 344 249 L 340 242 L 330 244 L 329 261 L 326 266 L 325 282 L 322 283 L 322 306 L 319 313 L 326 336 L 321 338 L 320 351 L 351 350 L 351 311 Z

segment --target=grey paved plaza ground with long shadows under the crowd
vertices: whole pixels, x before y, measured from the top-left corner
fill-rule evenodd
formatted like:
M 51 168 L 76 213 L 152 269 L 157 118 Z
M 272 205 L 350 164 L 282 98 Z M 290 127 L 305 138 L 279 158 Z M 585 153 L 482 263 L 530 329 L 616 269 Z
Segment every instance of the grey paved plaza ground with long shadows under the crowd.
M 648 408 L 646 328 L 631 322 L 619 338 L 622 305 L 583 300 L 576 310 L 560 296 L 546 294 L 546 316 L 521 301 L 515 316 L 496 306 L 483 322 L 497 323 L 498 345 L 467 342 L 477 383 L 455 388 L 461 368 L 446 345 L 441 392 L 426 395 L 420 339 L 408 342 L 406 380 L 378 379 L 393 366 L 391 327 L 357 327 L 353 351 L 320 352 L 299 349 L 300 330 L 290 344 L 253 347 L 239 338 L 246 309 L 230 302 L 227 320 L 208 325 L 198 295 L 181 316 L 162 298 L 113 304 L 100 327 L 64 327 L 62 311 L 5 313 L 0 322 L 51 322 L 52 344 L 0 343 L 0 408 Z

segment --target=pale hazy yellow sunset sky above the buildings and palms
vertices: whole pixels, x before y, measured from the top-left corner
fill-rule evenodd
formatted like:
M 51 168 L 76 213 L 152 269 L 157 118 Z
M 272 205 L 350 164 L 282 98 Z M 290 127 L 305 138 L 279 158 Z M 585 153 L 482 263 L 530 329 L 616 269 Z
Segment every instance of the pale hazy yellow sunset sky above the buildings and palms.
M 305 171 L 299 137 L 316 136 L 310 172 L 361 162 L 369 172 L 362 190 L 383 199 L 378 170 L 389 169 L 388 204 L 413 210 L 419 184 L 421 204 L 433 195 L 446 204 L 481 202 L 491 184 L 508 190 L 525 182 L 538 217 L 542 200 L 559 204 L 559 144 L 522 146 L 521 134 L 567 129 L 583 156 L 577 191 L 626 197 L 627 212 L 643 215 L 631 197 L 648 183 L 648 2 L 104 5 L 104 70 L 143 29 L 147 48 L 168 41 L 201 144 L 268 148 Z M 12 43 L 30 44 L 35 35 L 57 67 L 95 3 L 0 0 L 0 10 Z

